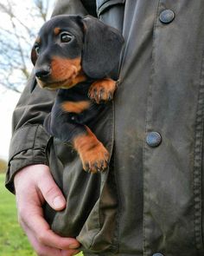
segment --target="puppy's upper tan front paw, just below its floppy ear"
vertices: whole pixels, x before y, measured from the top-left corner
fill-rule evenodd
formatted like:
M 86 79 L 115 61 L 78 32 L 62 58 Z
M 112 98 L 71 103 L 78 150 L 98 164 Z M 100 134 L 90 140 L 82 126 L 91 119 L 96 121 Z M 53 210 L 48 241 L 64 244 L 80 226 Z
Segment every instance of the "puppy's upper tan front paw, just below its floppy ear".
M 116 88 L 117 82 L 110 78 L 101 79 L 92 83 L 88 96 L 98 104 L 100 102 L 111 101 Z

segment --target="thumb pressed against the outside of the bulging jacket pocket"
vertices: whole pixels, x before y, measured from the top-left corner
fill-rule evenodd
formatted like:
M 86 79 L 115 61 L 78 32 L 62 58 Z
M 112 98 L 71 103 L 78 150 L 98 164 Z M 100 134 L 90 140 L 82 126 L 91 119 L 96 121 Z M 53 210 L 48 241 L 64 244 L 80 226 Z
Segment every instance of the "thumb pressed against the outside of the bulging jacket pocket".
M 43 178 L 38 181 L 38 188 L 48 205 L 56 211 L 61 211 L 66 207 L 66 200 L 61 193 L 61 189 L 56 185 L 50 172 L 44 172 Z

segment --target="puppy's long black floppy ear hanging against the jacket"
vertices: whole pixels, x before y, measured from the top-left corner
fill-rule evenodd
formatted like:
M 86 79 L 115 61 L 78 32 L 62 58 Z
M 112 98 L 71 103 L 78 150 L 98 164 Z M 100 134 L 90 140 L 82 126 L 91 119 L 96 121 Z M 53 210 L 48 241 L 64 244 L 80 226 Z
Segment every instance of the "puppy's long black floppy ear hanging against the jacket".
M 118 30 L 92 16 L 86 16 L 82 22 L 85 33 L 82 68 L 89 77 L 104 78 L 118 64 L 124 38 Z

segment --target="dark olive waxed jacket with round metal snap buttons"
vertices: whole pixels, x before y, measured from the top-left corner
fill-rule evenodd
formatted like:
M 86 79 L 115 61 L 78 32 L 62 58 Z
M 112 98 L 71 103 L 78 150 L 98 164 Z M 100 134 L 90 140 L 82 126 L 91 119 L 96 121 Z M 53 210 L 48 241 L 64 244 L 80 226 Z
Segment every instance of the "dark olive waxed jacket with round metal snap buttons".
M 68 145 L 42 128 L 54 92 L 32 75 L 13 117 L 6 186 L 21 167 L 48 164 L 67 197 L 54 232 L 77 237 L 85 255 L 204 255 L 204 1 L 60 0 L 54 15 L 99 16 L 122 31 L 114 101 L 90 124 L 112 154 L 87 174 Z M 42 177 L 43 178 L 43 177 Z

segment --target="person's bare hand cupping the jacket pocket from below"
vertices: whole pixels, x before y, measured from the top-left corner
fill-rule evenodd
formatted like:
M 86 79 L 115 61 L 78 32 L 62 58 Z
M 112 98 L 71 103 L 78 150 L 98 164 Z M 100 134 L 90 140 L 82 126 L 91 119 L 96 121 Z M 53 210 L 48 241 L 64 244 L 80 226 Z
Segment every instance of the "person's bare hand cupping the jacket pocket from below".
M 79 251 L 80 243 L 73 238 L 55 234 L 43 218 L 42 204 L 61 211 L 66 200 L 55 184 L 49 167 L 32 165 L 22 168 L 14 179 L 19 222 L 35 252 L 41 256 L 71 256 Z

